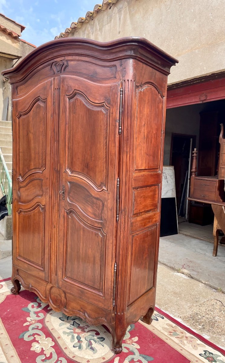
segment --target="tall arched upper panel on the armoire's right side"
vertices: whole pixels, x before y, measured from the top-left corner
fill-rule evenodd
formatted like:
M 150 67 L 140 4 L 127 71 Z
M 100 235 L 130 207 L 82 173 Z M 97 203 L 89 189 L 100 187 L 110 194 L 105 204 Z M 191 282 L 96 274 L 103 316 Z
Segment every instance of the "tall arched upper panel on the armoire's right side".
M 159 169 L 163 97 L 147 84 L 137 92 L 135 170 Z

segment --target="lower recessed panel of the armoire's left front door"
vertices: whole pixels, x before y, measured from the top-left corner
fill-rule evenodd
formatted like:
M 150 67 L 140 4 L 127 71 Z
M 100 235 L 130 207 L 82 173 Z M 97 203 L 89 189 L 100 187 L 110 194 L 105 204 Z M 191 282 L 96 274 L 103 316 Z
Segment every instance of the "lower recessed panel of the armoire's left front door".
M 44 270 L 44 225 L 45 208 L 40 204 L 17 212 L 17 258 L 41 270 Z

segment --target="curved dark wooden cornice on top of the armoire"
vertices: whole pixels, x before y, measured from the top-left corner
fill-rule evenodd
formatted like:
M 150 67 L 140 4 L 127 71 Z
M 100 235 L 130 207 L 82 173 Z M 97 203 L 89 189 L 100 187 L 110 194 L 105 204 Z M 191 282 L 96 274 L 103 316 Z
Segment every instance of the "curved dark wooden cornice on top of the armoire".
M 103 61 L 135 58 L 155 66 L 166 74 L 169 74 L 171 66 L 178 63 L 178 60 L 145 38 L 126 37 L 103 43 L 86 38 L 71 37 L 53 40 L 37 47 L 15 68 L 4 70 L 1 74 L 8 78 L 10 83 L 14 83 L 37 65 L 64 56 L 85 56 Z

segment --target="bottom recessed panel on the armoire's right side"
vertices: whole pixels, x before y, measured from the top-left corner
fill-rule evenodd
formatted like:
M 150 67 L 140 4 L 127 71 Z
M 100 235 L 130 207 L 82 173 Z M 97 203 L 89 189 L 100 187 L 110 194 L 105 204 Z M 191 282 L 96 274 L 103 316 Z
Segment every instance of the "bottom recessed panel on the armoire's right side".
M 129 304 L 154 284 L 157 225 L 132 236 Z

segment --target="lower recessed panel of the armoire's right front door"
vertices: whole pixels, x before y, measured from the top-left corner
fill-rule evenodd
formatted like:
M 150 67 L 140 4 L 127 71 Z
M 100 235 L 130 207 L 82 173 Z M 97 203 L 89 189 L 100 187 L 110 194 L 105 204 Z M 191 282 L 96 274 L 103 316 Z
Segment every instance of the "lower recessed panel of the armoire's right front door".
M 64 280 L 103 293 L 106 236 L 102 228 L 66 213 L 66 271 Z

